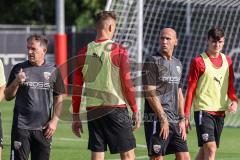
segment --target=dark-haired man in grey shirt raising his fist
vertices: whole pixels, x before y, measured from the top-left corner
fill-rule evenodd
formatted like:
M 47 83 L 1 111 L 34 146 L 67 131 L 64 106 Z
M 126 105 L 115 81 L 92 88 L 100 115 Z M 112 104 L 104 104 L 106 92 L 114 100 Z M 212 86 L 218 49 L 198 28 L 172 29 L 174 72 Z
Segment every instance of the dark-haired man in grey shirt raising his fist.
M 15 98 L 11 160 L 28 160 L 30 152 L 32 160 L 49 159 L 64 84 L 60 71 L 44 59 L 47 45 L 46 37 L 29 36 L 28 60 L 16 64 L 9 76 L 5 98 Z

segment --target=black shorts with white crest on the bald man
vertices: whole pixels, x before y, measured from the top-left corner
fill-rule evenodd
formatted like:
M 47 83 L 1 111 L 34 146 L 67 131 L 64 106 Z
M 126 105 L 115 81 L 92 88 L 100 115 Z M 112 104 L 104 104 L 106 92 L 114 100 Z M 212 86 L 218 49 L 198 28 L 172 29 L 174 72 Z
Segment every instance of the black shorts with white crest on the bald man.
M 159 136 L 159 121 L 144 122 L 148 156 L 164 156 L 178 152 L 188 152 L 187 141 L 180 134 L 178 123 L 169 123 L 169 136 L 163 140 Z

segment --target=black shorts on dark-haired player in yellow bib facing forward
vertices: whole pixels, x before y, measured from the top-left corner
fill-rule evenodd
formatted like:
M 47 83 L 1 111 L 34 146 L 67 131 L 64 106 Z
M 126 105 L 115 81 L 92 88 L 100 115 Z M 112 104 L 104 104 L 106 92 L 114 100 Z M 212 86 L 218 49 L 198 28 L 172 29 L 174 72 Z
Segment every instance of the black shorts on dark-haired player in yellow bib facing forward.
M 204 143 L 215 141 L 217 147 L 219 147 L 224 118 L 222 116 L 211 115 L 206 111 L 194 112 L 198 146 L 202 147 Z

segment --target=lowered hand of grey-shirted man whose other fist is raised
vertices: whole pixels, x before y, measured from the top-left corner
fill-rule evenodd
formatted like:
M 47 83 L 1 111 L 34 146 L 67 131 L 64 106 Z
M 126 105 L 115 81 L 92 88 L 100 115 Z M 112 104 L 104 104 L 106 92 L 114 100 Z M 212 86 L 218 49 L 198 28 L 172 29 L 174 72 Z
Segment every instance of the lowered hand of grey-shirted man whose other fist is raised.
M 50 139 L 55 133 L 57 129 L 57 123 L 58 123 L 58 118 L 53 118 L 43 127 L 43 130 L 45 130 L 44 136 L 47 139 Z

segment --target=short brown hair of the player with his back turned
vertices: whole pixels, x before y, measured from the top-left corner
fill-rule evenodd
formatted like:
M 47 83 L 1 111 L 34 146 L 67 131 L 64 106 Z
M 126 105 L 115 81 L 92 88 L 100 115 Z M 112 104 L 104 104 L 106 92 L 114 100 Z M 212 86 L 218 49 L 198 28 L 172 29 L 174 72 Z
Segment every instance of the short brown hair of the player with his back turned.
M 102 11 L 99 12 L 96 16 L 96 25 L 97 27 L 103 26 L 104 21 L 108 20 L 109 18 L 116 21 L 117 17 L 114 11 Z

